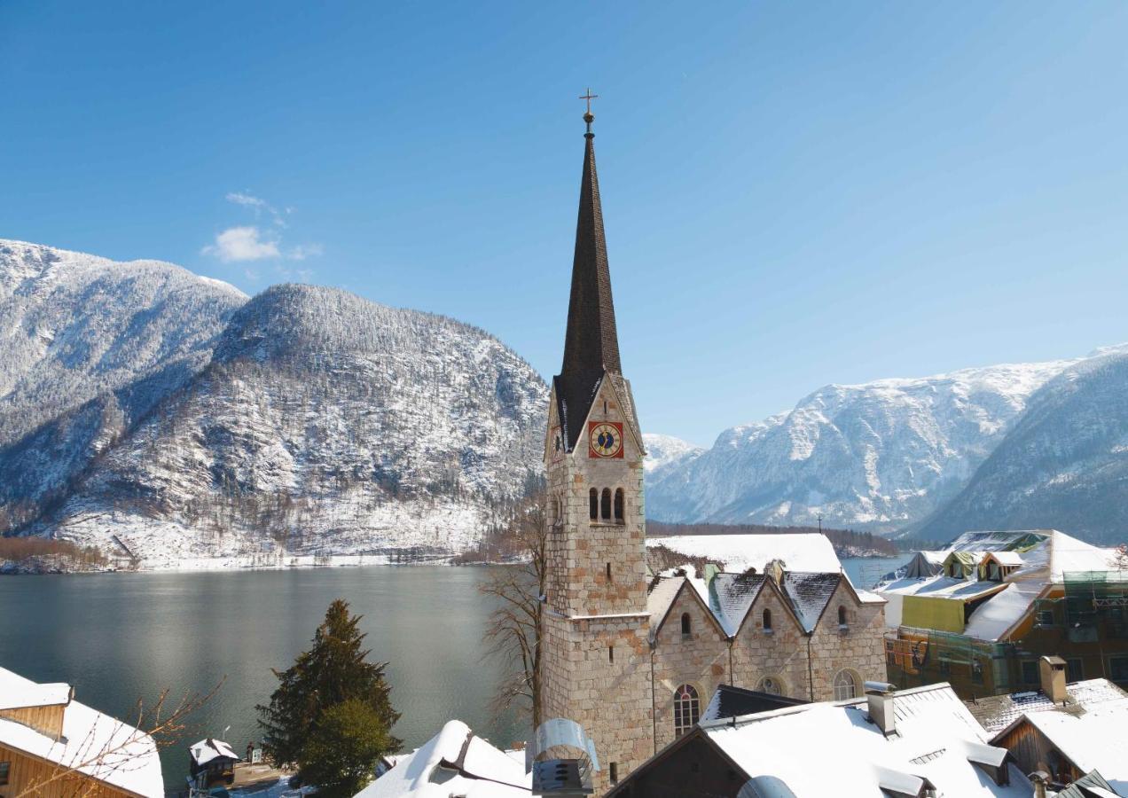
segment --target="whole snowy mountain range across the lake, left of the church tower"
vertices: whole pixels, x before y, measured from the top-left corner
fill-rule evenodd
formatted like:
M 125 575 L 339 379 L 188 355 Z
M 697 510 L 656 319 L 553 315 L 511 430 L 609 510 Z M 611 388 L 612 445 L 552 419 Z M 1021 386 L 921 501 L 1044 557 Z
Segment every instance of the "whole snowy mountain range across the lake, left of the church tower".
M 457 553 L 540 478 L 546 385 L 481 329 L 333 289 L 247 301 L 164 264 L 8 247 L 5 301 L 42 293 L 61 264 L 77 273 L 5 330 L 55 325 L 54 344 L 25 345 L 0 383 L 23 411 L 7 416 L 21 426 L 0 447 L 0 508 L 38 516 L 25 532 L 105 549 L 116 535 L 155 567 Z M 55 378 L 33 376 L 44 363 Z M 55 396 L 56 411 L 23 420 Z M 51 469 L 50 496 L 17 479 Z

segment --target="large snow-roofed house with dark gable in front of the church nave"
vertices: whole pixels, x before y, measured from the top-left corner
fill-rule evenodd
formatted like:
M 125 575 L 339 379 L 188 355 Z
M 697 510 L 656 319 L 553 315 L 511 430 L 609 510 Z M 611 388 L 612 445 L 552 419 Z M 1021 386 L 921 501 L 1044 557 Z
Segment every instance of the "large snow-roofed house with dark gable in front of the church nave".
M 849 701 L 703 720 L 608 798 L 1033 795 L 950 685 L 881 686 Z

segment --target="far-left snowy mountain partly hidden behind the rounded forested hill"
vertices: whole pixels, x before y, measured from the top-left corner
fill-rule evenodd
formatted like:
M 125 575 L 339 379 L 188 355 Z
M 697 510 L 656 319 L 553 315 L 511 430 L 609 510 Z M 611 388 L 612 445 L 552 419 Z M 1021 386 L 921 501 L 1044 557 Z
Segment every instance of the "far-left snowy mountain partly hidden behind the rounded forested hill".
M 246 300 L 171 264 L 0 239 L 0 531 L 203 369 Z

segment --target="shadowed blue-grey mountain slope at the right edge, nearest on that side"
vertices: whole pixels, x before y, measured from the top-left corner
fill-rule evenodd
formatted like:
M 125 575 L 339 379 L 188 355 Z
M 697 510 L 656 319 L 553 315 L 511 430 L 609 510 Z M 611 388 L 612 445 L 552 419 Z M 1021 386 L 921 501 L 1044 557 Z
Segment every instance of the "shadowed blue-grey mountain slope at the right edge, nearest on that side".
M 911 530 L 948 540 L 972 529 L 1060 529 L 1123 543 L 1128 530 L 1128 353 L 1077 363 L 1025 414 L 960 494 Z

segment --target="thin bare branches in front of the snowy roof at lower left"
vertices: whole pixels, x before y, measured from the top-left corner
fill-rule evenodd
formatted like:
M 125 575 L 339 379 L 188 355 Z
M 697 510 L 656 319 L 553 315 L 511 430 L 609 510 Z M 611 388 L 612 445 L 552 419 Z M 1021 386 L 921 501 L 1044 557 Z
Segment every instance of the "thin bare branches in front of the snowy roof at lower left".
M 87 730 L 82 741 L 74 745 L 71 761 L 55 763 L 46 775 L 30 781 L 14 798 L 30 798 L 43 793 L 63 798 L 102 795 L 103 782 L 107 778 L 142 768 L 146 759 L 157 755 L 160 748 L 179 739 L 187 727 L 186 718 L 210 701 L 221 685 L 222 682 L 205 695 L 185 695 L 171 707 L 168 690 L 162 691 L 149 708 L 139 700 L 136 722 L 132 726 L 103 716 Z M 98 724 L 103 726 L 99 727 Z

